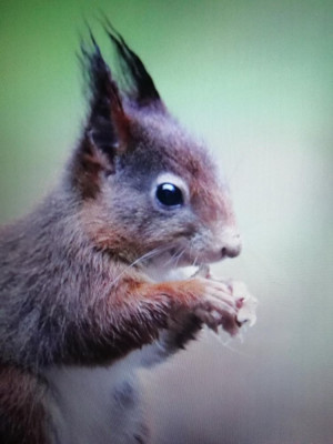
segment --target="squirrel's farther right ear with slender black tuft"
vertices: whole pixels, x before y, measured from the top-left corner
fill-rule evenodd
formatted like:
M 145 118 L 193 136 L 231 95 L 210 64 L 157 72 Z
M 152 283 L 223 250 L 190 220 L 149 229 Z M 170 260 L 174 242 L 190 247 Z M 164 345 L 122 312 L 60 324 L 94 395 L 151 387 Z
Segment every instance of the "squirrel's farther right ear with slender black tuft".
M 139 107 L 162 105 L 160 94 L 141 59 L 129 48 L 107 18 L 104 18 L 104 30 L 117 49 L 123 77 L 130 87 L 131 99 Z

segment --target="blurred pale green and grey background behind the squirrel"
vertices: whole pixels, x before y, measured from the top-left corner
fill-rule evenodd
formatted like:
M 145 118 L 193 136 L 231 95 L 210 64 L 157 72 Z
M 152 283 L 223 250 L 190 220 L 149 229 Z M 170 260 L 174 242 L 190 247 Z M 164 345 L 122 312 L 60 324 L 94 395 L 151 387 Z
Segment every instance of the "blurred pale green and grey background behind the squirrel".
M 244 250 L 214 269 L 258 324 L 142 374 L 155 443 L 333 442 L 332 1 L 0 6 L 0 222 L 52 188 L 85 112 L 75 53 L 103 11 L 230 180 Z M 224 344 L 224 345 L 223 345 Z

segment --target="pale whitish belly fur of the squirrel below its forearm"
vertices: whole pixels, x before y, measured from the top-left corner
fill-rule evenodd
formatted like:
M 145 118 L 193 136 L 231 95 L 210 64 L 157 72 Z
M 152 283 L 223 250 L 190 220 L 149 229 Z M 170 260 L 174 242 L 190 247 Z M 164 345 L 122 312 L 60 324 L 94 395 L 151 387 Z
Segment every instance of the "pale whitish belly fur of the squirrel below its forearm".
M 52 369 L 46 377 L 52 444 L 148 442 L 142 414 L 138 352 L 109 367 Z

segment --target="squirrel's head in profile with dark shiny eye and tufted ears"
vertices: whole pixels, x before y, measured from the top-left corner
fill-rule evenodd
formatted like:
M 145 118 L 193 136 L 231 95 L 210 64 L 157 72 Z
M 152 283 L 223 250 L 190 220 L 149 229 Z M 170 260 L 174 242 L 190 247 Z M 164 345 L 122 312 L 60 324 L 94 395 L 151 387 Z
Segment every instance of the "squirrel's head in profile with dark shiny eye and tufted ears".
M 92 49 L 82 50 L 90 112 L 70 164 L 87 234 L 129 262 L 162 255 L 175 266 L 238 255 L 229 190 L 213 160 L 170 115 L 139 57 L 107 31 L 128 88 L 120 90 L 91 37 Z

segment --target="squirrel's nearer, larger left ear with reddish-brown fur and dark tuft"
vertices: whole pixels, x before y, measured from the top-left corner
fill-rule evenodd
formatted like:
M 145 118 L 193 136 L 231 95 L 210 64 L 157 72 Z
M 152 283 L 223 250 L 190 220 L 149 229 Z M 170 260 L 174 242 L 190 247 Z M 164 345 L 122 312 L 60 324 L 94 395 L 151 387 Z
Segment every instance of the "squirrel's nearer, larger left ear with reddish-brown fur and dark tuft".
M 92 48 L 82 43 L 80 54 L 90 108 L 71 164 L 73 185 L 87 198 L 99 191 L 101 172 L 114 172 L 115 157 L 127 150 L 130 138 L 130 119 L 123 110 L 121 93 L 93 36 L 90 37 Z

